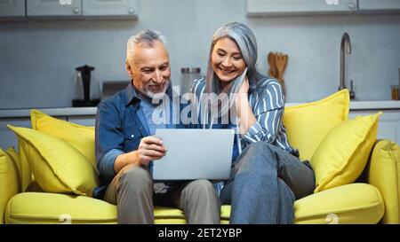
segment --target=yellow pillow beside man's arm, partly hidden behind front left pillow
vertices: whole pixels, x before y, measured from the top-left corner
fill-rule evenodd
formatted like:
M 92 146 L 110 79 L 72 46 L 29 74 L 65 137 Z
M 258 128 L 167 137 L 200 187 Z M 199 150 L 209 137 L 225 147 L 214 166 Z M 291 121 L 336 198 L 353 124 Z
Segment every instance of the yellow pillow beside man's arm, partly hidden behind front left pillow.
M 94 153 L 94 127 L 86 127 L 68 121 L 62 121 L 39 110 L 30 111 L 32 129 L 44 132 L 52 137 L 58 137 L 71 144 L 84 154 L 96 169 L 96 156 Z

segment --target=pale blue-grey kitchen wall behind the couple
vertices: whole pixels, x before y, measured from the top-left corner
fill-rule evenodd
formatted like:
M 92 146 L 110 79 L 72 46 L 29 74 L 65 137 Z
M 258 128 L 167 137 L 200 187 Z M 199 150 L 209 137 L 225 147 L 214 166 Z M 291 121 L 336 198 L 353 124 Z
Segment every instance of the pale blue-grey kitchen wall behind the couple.
M 346 56 L 346 77 L 355 82 L 356 98 L 389 99 L 389 85 L 398 83 L 398 14 L 253 19 L 245 16 L 245 0 L 146 0 L 140 1 L 139 14 L 139 20 L 129 21 L 0 23 L 0 108 L 70 106 L 75 67 L 84 64 L 96 67 L 97 88 L 103 81 L 127 80 L 125 43 L 142 28 L 168 37 L 173 80 L 179 80 L 183 66 L 200 66 L 204 73 L 212 33 L 234 20 L 257 36 L 262 73 L 268 69 L 268 51 L 289 55 L 284 75 L 289 102 L 337 90 L 344 32 L 353 48 Z

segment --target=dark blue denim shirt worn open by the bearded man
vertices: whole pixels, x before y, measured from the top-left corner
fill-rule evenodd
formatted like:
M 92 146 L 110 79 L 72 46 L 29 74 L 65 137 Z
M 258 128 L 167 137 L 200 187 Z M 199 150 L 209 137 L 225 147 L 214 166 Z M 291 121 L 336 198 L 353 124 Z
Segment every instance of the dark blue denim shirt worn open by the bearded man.
M 181 120 L 180 112 L 185 110 L 188 101 L 174 95 L 171 86 L 166 91 L 170 98 L 170 108 L 179 107 L 179 112 L 169 112 L 167 129 L 192 128 L 188 120 Z M 148 137 L 148 123 L 140 107 L 140 96 L 133 88 L 132 82 L 113 97 L 100 102 L 96 114 L 95 149 L 97 168 L 100 173 L 100 186 L 93 191 L 93 197 L 102 199 L 108 184 L 116 172 L 116 157 L 125 152 L 138 149 L 142 137 Z M 172 110 L 172 109 L 170 109 Z M 173 116 L 175 113 L 176 116 Z M 190 113 L 188 113 L 188 116 Z

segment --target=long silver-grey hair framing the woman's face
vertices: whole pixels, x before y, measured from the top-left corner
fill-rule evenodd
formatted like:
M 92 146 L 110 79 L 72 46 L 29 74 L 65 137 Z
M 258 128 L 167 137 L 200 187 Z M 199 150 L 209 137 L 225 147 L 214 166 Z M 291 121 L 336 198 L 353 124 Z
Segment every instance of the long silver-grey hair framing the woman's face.
M 221 38 L 225 37 L 233 40 L 242 52 L 244 63 L 247 66 L 246 75 L 249 79 L 249 84 L 252 86 L 253 83 L 257 82 L 260 79 L 261 74 L 256 70 L 257 41 L 254 34 L 252 33 L 252 30 L 242 23 L 227 23 L 219 27 L 212 36 L 207 74 L 205 76 L 206 90 L 208 93 L 220 94 L 220 79 L 212 69 L 212 50 L 214 49 L 215 43 L 217 43 Z M 228 90 L 228 94 L 236 93 L 242 85 L 243 81 L 243 75 L 239 75 L 238 77 L 236 77 L 236 79 L 232 81 L 231 87 Z

